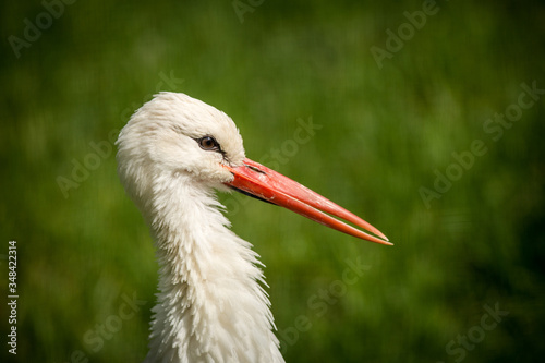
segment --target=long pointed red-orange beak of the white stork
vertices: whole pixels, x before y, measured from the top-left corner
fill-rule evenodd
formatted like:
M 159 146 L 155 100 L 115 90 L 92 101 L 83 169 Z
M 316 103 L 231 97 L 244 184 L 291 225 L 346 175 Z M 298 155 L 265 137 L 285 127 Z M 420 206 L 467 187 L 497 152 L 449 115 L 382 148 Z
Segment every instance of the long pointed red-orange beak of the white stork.
M 226 166 L 226 168 L 234 176 L 233 181 L 226 184 L 239 192 L 254 196 L 264 202 L 282 206 L 308 219 L 317 221 L 318 223 L 362 240 L 382 244 L 392 244 L 388 242 L 386 235 L 365 220 L 300 183 L 258 162 L 246 158 L 242 167 L 231 168 Z M 326 213 L 352 222 L 378 235 L 378 238 L 335 219 Z

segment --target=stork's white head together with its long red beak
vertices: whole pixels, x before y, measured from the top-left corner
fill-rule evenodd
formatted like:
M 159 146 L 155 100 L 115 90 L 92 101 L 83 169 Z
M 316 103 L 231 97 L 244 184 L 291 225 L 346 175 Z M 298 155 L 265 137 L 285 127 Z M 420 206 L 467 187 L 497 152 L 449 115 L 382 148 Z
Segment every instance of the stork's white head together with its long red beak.
M 180 181 L 180 178 L 172 177 L 184 177 L 182 179 L 187 183 L 218 190 L 231 187 L 344 233 L 391 244 L 363 219 L 245 158 L 242 137 L 231 118 L 184 94 L 161 92 L 156 95 L 131 117 L 117 144 L 121 181 L 142 210 L 156 192 L 154 181 Z

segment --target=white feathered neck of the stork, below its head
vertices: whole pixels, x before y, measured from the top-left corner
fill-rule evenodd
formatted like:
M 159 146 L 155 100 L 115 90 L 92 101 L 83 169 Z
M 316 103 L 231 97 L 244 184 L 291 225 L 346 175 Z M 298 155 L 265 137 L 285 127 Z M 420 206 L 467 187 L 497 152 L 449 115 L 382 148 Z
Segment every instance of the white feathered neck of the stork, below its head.
M 211 190 L 178 180 L 154 191 L 160 270 L 148 360 L 282 362 L 257 255 L 228 229 Z

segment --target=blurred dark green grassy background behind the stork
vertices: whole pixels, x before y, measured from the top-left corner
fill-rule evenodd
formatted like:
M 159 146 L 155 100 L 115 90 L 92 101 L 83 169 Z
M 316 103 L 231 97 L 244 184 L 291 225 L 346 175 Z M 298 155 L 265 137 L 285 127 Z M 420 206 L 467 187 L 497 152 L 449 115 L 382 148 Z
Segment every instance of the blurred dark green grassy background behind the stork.
M 226 111 L 249 157 L 396 244 L 220 196 L 267 266 L 287 361 L 541 361 L 545 95 L 521 84 L 545 89 L 543 2 L 51 4 L 1 4 L 0 287 L 15 240 L 20 294 L 16 356 L 0 308 L 2 362 L 144 359 L 157 264 L 112 141 L 158 90 Z

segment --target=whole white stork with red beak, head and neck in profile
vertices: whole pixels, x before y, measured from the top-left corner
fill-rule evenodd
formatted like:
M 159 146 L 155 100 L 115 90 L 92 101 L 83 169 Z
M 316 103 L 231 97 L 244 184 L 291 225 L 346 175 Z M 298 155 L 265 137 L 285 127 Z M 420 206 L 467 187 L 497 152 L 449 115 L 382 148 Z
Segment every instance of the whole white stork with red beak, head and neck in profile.
M 156 95 L 117 144 L 120 179 L 150 228 L 160 266 L 145 362 L 283 362 L 258 255 L 229 229 L 215 190 L 235 190 L 391 244 L 350 211 L 245 158 L 234 122 L 186 95 Z

